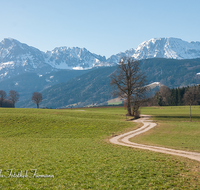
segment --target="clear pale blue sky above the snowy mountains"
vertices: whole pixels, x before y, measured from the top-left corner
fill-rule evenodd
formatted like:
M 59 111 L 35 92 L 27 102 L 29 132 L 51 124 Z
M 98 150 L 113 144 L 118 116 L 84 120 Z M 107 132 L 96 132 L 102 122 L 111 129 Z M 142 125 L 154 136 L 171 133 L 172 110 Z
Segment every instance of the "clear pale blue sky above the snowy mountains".
M 0 41 L 106 56 L 151 38 L 200 41 L 199 0 L 0 0 Z

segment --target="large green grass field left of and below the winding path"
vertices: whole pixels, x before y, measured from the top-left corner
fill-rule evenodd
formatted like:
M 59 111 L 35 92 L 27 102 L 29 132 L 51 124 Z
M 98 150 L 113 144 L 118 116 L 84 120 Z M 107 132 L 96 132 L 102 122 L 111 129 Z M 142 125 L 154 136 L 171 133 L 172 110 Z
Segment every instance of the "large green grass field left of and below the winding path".
M 164 123 L 166 110 L 142 113 Z M 172 110 L 169 120 L 181 122 L 182 109 L 174 111 L 175 119 Z M 125 113 L 123 108 L 1 108 L 0 189 L 199 189 L 199 162 L 108 142 L 138 127 L 125 121 Z M 194 120 L 198 123 L 198 114 Z M 25 171 L 27 176 L 19 177 Z

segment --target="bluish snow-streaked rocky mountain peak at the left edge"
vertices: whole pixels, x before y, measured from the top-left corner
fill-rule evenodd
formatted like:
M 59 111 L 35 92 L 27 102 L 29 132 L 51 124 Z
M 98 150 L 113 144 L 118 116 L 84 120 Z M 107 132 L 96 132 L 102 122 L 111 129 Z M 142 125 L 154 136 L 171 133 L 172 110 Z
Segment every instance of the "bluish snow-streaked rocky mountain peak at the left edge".
M 40 50 L 12 38 L 0 42 L 0 80 L 25 72 L 52 70 Z

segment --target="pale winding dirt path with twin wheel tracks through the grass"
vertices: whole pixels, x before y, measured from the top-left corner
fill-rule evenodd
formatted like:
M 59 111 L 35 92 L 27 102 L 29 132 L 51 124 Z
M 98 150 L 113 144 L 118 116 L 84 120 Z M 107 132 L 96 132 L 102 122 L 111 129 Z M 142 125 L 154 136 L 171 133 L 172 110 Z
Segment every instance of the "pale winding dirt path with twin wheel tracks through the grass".
M 186 158 L 200 161 L 200 153 L 197 153 L 197 152 L 188 152 L 188 151 L 183 151 L 183 150 L 175 150 L 175 149 L 170 149 L 170 148 L 143 145 L 143 144 L 137 144 L 134 142 L 130 142 L 129 141 L 130 138 L 132 138 L 136 135 L 139 135 L 141 133 L 144 133 L 157 125 L 156 123 L 153 123 L 151 120 L 149 120 L 150 117 L 151 116 L 148 116 L 148 115 L 142 115 L 142 118 L 134 121 L 134 122 L 143 123 L 143 126 L 141 128 L 136 129 L 134 131 L 130 131 L 128 133 L 124 133 L 124 134 L 115 136 L 110 139 L 110 142 L 113 144 L 118 144 L 118 145 L 122 145 L 122 146 L 151 150 L 154 152 L 161 152 L 161 153 L 172 154 L 172 155 L 176 155 L 176 156 L 183 156 Z

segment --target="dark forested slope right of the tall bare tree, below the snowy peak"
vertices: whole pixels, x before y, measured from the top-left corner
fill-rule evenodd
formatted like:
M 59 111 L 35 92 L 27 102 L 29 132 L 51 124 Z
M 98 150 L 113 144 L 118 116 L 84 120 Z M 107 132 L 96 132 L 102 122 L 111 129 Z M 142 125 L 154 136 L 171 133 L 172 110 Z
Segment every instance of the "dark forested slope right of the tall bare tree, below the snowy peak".
M 170 88 L 200 84 L 200 59 L 145 59 L 141 69 L 149 83 L 160 82 Z

